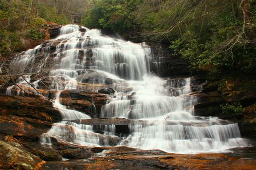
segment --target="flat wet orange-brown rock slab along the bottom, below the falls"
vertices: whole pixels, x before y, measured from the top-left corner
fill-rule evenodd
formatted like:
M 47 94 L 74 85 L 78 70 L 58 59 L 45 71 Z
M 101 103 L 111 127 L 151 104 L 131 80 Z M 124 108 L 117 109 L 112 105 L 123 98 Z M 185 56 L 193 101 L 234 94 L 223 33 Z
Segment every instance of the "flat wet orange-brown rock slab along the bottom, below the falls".
M 255 160 L 224 154 L 170 154 L 161 151 L 103 151 L 105 157 L 48 162 L 44 169 L 254 169 Z M 101 155 L 101 154 L 99 154 Z

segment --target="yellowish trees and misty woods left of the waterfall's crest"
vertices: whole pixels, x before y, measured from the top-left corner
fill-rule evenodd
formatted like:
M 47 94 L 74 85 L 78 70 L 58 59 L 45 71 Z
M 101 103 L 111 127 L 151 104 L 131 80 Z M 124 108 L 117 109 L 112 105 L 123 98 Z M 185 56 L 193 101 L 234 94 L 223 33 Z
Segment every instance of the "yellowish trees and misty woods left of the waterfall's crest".
M 90 0 L 0 1 L 0 57 L 26 50 L 44 39 L 46 24 L 70 24 Z

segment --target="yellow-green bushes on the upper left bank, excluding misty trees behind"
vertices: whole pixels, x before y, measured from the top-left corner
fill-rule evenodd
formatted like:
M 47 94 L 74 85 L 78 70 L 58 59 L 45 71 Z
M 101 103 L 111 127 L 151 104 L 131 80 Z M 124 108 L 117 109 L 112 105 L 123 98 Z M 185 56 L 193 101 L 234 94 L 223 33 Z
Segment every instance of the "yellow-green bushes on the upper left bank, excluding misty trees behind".
M 46 21 L 58 24 L 70 23 L 63 14 L 56 14 L 53 6 L 40 1 L 0 2 L 0 54 L 24 50 L 32 40 L 44 38 Z

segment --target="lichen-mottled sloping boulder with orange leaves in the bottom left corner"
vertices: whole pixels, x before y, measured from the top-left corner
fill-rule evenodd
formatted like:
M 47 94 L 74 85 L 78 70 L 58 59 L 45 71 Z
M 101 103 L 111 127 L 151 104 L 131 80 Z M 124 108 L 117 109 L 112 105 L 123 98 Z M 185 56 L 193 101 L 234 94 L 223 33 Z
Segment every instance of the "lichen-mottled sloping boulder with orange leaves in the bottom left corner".
M 45 164 L 16 142 L 0 141 L 0 160 L 1 169 L 39 169 Z

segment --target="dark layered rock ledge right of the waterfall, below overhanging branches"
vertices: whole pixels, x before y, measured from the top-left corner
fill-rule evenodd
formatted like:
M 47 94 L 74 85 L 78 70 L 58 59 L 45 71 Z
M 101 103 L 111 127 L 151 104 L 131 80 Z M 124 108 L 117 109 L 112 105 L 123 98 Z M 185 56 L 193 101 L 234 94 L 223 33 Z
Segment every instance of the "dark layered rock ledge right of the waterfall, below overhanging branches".
M 199 77 L 197 79 L 204 83 L 201 84 L 201 92 L 198 94 L 199 104 L 194 106 L 195 114 L 217 116 L 222 119 L 238 122 L 242 135 L 255 140 L 255 81 L 239 76 L 217 80 L 207 80 Z M 226 103 L 240 103 L 245 110 L 239 116 L 232 113 L 224 114 L 221 111 L 220 105 Z

